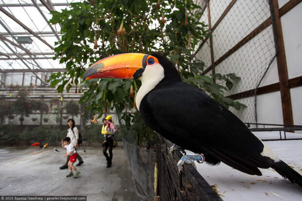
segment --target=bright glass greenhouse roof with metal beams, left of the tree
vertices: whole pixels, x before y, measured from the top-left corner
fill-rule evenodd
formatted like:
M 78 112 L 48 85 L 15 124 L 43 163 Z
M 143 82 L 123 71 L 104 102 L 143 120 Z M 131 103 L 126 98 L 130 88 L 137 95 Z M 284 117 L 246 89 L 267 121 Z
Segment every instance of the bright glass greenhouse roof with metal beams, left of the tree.
M 0 0 L 0 71 L 62 69 L 53 60 L 60 26 L 51 25 L 50 11 L 80 0 Z

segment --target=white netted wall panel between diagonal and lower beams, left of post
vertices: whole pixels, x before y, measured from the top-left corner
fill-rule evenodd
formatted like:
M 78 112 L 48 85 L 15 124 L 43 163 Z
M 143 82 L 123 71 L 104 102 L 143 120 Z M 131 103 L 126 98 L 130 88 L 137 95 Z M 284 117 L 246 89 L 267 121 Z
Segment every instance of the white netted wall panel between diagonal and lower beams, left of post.
M 243 47 L 216 66 L 216 73 L 235 73 L 241 78 L 227 95 L 256 88 L 270 60 L 275 55 L 274 42 L 271 38 L 272 34 L 272 26 L 267 27 L 261 34 L 252 38 Z M 276 66 L 270 66 L 270 72 L 265 78 L 266 84 L 278 82 L 278 74 L 276 75 L 274 68 Z

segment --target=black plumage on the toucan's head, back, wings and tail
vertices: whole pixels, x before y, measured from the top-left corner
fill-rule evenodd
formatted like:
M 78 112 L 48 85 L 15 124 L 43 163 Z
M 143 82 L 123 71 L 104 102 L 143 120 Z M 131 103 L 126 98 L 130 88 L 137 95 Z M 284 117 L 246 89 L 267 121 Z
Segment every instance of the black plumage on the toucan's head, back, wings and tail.
M 182 82 L 166 57 L 152 56 L 158 59 L 165 73 L 139 106 L 143 119 L 152 129 L 178 146 L 203 153 L 209 164 L 223 162 L 251 175 L 262 175 L 258 167 L 278 166 L 273 159 L 261 155 L 264 149 L 261 140 L 232 112 L 201 89 Z M 281 162 L 279 166 L 295 175 L 283 173 L 283 177 L 302 185 L 302 176 Z

